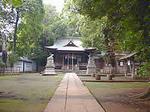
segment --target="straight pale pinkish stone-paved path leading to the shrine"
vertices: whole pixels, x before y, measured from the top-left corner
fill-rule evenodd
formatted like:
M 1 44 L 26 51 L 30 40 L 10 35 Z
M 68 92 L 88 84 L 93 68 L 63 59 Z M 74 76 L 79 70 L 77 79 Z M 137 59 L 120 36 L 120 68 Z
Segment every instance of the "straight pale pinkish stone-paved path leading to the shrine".
M 105 112 L 75 73 L 66 73 L 44 112 Z

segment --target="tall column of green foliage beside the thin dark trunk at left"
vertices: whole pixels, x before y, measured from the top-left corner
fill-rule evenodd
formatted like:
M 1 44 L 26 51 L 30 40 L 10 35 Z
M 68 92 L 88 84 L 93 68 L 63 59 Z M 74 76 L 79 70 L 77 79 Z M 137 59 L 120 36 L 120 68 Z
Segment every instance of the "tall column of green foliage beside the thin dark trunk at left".
M 19 11 L 21 21 L 17 31 L 16 52 L 20 56 L 28 56 L 36 48 L 43 31 L 43 4 L 41 0 L 26 0 Z

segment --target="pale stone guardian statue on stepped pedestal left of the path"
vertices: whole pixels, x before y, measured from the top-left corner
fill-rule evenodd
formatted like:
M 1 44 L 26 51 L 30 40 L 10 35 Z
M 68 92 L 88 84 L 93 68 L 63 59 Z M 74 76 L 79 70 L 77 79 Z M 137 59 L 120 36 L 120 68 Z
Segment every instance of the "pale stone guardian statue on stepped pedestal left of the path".
M 47 58 L 47 64 L 43 75 L 56 75 L 53 54 Z

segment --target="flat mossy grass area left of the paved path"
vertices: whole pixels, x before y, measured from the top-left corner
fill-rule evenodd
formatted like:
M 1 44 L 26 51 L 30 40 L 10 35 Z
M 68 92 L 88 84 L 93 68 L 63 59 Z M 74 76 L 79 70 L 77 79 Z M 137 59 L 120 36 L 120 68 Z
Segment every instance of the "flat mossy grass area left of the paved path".
M 0 77 L 0 112 L 42 112 L 63 75 Z

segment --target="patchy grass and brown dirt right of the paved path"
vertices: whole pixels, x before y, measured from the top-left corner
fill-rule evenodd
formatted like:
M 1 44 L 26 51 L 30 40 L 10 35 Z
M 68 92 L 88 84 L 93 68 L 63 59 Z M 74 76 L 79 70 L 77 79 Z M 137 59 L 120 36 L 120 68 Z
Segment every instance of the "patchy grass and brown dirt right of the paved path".
M 150 87 L 148 82 L 84 82 L 106 112 L 149 112 L 149 100 L 137 95 Z

